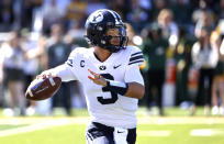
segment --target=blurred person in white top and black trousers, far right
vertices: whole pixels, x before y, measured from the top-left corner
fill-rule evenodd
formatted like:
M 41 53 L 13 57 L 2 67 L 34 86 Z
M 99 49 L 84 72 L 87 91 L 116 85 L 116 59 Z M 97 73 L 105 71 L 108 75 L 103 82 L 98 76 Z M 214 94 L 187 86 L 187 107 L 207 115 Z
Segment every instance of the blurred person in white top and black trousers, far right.
M 197 103 L 204 104 L 204 114 L 210 114 L 212 84 L 219 60 L 217 45 L 210 42 L 210 34 L 206 27 L 202 27 L 201 35 L 192 47 L 192 60 L 199 69 L 199 82 L 191 114 L 194 114 Z

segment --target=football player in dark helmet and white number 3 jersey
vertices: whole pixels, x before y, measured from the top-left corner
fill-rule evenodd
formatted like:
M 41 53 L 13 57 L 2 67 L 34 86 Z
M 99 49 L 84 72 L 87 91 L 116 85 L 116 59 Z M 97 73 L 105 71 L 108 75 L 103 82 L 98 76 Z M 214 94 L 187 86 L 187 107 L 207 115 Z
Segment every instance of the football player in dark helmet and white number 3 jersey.
M 38 77 L 59 76 L 83 85 L 90 121 L 89 144 L 134 144 L 138 99 L 145 92 L 139 71 L 143 54 L 126 46 L 125 25 L 112 10 L 98 10 L 86 22 L 90 48 L 74 49 L 68 60 Z

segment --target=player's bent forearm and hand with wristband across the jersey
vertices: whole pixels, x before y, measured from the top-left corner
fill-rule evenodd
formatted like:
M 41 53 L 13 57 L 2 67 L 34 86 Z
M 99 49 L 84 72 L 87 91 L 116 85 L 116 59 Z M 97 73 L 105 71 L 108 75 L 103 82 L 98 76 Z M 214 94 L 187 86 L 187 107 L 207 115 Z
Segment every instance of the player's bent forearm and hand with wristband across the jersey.
M 88 78 L 94 84 L 103 86 L 104 89 L 130 98 L 142 99 L 144 97 L 145 87 L 142 84 L 109 80 L 90 69 L 89 71 L 93 77 L 88 76 Z

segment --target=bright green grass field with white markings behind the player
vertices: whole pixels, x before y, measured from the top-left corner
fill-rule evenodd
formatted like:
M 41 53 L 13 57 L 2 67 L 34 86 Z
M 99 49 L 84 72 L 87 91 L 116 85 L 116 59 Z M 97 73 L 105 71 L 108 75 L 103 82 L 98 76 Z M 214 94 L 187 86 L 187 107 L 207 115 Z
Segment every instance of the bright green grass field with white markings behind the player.
M 178 108 L 165 112 L 166 117 L 148 117 L 145 108 L 137 111 L 137 144 L 224 144 L 223 117 L 204 117 L 201 108 L 194 117 Z M 74 113 L 71 118 L 0 115 L 0 144 L 85 144 L 88 113 Z

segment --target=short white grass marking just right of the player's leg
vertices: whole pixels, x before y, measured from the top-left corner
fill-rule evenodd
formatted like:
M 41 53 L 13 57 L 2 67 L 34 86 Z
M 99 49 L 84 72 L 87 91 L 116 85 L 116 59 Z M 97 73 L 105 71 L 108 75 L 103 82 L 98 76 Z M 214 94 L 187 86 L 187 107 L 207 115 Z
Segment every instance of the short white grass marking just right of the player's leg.
M 137 136 L 169 136 L 171 131 L 169 130 L 149 130 L 149 131 L 137 131 Z

